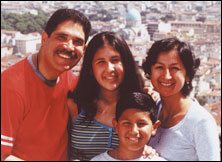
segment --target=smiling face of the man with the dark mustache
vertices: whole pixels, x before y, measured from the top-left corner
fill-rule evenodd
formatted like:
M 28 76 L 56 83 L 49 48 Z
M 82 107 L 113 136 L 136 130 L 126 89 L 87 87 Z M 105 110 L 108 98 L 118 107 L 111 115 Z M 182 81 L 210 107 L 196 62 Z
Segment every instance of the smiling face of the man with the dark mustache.
M 57 77 L 75 66 L 84 50 L 85 33 L 82 25 L 70 20 L 64 21 L 57 26 L 50 37 L 46 32 L 42 33 L 42 69 L 49 73 L 49 76 Z

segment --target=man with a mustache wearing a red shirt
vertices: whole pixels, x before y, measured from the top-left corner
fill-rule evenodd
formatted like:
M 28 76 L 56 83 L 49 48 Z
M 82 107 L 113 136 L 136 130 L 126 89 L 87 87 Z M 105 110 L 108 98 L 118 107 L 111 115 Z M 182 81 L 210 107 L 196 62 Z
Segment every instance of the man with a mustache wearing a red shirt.
M 1 74 L 1 160 L 67 160 L 69 71 L 82 57 L 91 25 L 78 11 L 60 9 L 42 33 L 38 54 Z

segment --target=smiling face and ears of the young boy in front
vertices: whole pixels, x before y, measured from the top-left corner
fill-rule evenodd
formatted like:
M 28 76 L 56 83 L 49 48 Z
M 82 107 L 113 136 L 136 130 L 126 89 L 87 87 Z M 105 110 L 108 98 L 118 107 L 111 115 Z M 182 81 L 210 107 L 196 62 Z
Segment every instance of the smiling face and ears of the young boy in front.
M 148 112 L 130 108 L 122 113 L 118 123 L 113 120 L 113 124 L 119 135 L 119 149 L 141 152 L 150 137 L 156 134 L 160 122 L 152 124 Z

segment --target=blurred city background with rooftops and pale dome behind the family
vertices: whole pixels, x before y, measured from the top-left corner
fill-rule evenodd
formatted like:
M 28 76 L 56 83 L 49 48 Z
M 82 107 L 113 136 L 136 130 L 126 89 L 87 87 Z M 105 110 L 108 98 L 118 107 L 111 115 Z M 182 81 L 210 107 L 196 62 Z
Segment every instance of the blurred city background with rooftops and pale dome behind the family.
M 60 8 L 90 19 L 90 39 L 101 31 L 119 33 L 139 67 L 154 41 L 178 37 L 189 42 L 201 59 L 191 95 L 214 116 L 221 132 L 221 1 L 1 1 L 1 71 L 39 51 L 41 32 Z

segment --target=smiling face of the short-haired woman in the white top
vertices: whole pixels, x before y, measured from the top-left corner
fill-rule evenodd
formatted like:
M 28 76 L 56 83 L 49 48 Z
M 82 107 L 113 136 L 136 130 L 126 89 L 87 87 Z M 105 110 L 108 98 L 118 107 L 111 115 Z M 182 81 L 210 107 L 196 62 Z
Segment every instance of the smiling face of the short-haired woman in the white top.
M 180 94 L 186 77 L 178 52 L 171 50 L 159 54 L 156 64 L 151 67 L 151 82 L 162 97 Z

